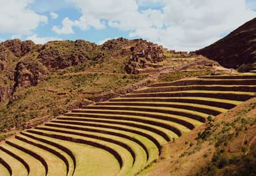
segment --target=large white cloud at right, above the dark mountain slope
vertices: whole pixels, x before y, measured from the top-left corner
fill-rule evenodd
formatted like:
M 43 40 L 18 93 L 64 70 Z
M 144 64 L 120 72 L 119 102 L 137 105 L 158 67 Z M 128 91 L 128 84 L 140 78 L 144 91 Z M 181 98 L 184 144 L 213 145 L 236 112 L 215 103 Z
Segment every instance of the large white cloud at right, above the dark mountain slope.
M 169 49 L 196 50 L 254 18 L 256 12 L 243 0 L 169 0 L 163 15 L 166 28 L 136 29 L 130 36 L 161 42 Z

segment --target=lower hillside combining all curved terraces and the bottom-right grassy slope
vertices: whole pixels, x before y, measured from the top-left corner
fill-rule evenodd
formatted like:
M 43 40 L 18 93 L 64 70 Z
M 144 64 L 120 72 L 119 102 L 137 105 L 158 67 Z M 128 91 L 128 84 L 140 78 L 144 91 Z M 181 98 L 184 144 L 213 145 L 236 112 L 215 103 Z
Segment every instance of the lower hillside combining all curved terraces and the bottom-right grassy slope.
M 215 175 L 229 169 L 250 175 L 256 75 L 211 72 L 163 73 L 158 83 L 21 130 L 0 145 L 0 172 Z

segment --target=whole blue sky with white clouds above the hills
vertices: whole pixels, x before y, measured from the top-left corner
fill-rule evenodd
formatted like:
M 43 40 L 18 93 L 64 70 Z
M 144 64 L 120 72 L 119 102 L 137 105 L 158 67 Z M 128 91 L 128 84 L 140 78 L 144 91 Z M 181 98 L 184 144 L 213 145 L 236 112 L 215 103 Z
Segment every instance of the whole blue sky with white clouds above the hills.
M 0 41 L 143 38 L 192 51 L 256 17 L 255 0 L 0 0 Z

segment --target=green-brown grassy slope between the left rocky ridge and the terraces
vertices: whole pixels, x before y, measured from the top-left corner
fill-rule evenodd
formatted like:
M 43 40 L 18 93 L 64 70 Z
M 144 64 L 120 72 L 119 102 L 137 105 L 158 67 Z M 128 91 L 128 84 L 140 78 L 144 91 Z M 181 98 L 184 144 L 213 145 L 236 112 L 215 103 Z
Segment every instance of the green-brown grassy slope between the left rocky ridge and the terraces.
M 0 104 L 0 131 L 14 126 L 23 129 L 27 121 L 38 117 L 53 118 L 81 106 L 95 93 L 115 90 L 145 77 L 105 73 L 48 76 L 37 86 L 18 88 L 12 104 Z

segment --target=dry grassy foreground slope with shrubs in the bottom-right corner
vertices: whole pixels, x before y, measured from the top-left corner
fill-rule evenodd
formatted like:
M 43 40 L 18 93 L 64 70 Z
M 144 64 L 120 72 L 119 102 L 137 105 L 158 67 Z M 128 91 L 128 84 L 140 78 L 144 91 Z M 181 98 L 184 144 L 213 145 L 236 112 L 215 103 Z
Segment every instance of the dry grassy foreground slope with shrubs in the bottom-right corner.
M 252 98 L 166 144 L 159 163 L 141 175 L 255 174 L 255 107 Z

